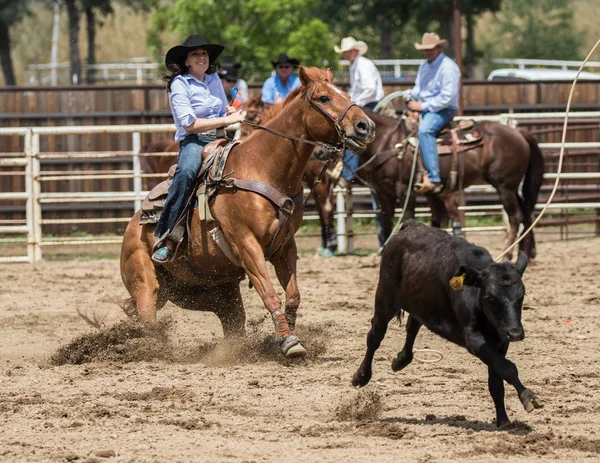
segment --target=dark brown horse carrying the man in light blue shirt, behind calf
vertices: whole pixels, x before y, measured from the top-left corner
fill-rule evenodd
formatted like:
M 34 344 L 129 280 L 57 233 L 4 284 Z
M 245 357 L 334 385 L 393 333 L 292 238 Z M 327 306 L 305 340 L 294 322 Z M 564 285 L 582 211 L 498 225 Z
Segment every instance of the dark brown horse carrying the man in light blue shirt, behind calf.
M 397 200 L 404 203 L 407 185 L 410 180 L 413 162 L 413 149 L 409 149 L 402 159 L 398 159 L 398 151 L 394 148 L 409 134 L 416 135 L 418 115 L 405 111 L 400 119 L 374 113 L 365 109 L 365 113 L 375 122 L 377 136 L 361 153 L 361 164 L 364 168 L 358 174 L 365 178 L 375 190 L 375 196 L 381 207 L 384 238 L 392 233 L 394 210 Z M 484 144 L 466 151 L 462 156 L 464 169 L 462 185 L 464 188 L 477 183 L 491 184 L 498 195 L 504 210 L 508 214 L 510 230 L 505 249 L 516 239 L 519 225 L 528 228 L 532 222 L 532 214 L 538 193 L 543 181 L 544 160 L 536 140 L 525 130 L 517 130 L 496 122 L 480 122 L 484 135 Z M 452 156 L 440 156 L 440 172 L 442 182 L 448 182 Z M 519 195 L 519 184 L 523 182 Z M 414 215 L 415 193 L 410 193 L 405 219 Z M 453 222 L 463 222 L 464 217 L 458 211 L 455 194 L 427 194 L 432 211 L 432 225 L 440 226 L 445 211 Z M 520 249 L 528 257 L 535 256 L 535 240 L 533 233 L 520 243 Z M 512 252 L 507 254 L 512 258 Z

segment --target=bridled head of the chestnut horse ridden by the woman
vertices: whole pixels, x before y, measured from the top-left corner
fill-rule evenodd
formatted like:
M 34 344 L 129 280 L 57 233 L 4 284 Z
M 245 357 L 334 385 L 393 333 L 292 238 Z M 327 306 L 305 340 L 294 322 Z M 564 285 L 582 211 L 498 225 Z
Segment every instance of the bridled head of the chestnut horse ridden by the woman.
M 315 140 L 345 143 L 353 151 L 362 151 L 375 138 L 375 124 L 347 93 L 333 85 L 330 69 L 300 66 L 304 94 L 314 111 L 307 111 L 306 126 Z

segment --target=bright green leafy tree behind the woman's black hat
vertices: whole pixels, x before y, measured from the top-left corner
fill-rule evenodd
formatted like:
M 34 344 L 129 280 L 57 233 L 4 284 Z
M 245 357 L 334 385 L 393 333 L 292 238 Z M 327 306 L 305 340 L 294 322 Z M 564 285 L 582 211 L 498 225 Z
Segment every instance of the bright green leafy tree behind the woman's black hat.
M 157 1 L 151 17 L 148 44 L 157 59 L 175 44 L 163 43 L 165 32 L 181 41 L 200 34 L 225 45 L 225 54 L 242 64 L 245 77 L 264 76 L 271 60 L 285 52 L 302 64 L 337 64 L 333 37 L 327 25 L 310 16 L 318 0 L 176 0 Z

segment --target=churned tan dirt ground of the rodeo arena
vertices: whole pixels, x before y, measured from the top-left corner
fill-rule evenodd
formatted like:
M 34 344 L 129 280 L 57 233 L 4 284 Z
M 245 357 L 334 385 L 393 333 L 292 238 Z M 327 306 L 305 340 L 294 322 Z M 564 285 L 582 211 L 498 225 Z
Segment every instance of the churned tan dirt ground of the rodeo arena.
M 480 239 L 493 243 L 498 237 Z M 0 266 L 0 461 L 600 461 L 600 239 L 543 242 L 525 273 L 526 338 L 508 357 L 545 402 L 497 431 L 487 369 L 422 330 L 443 359 L 393 373 L 404 327 L 390 326 L 371 383 L 350 385 L 373 311 L 378 260 L 299 262 L 298 335 L 283 359 L 254 290 L 249 332 L 225 343 L 217 317 L 168 305 L 140 338 L 117 306 L 118 261 Z M 77 311 L 102 321 L 90 327 Z M 71 344 L 89 334 L 88 341 Z M 424 355 L 424 354 L 422 354 Z M 55 365 L 55 363 L 82 364 Z M 54 363 L 54 364 L 53 364 Z

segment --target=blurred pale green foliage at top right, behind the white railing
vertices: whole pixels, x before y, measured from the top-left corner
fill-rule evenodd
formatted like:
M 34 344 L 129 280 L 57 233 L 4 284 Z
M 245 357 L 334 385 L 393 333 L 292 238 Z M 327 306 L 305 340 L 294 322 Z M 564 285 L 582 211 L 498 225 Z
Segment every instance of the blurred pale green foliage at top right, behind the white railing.
M 505 0 L 495 15 L 493 56 L 530 59 L 580 59 L 582 39 L 570 0 Z

